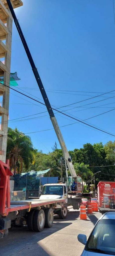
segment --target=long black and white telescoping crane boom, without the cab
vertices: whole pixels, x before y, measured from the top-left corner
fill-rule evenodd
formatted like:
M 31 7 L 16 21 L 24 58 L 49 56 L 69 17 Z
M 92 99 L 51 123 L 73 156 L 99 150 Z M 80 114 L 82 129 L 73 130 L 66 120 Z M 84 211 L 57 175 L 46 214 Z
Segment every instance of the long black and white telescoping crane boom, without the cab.
M 12 17 L 13 17 L 13 19 L 14 19 L 14 23 L 15 23 L 16 28 L 17 28 L 17 30 L 18 30 L 18 33 L 19 33 L 19 36 L 20 36 L 20 38 L 21 38 L 22 44 L 23 44 L 23 46 L 24 46 L 25 52 L 26 52 L 26 54 L 27 54 L 27 56 L 28 56 L 30 65 L 31 65 L 31 67 L 32 67 L 32 70 L 33 70 L 33 73 L 34 73 L 34 76 L 35 76 L 35 79 L 36 79 L 36 82 L 37 82 L 37 84 L 38 84 L 38 86 L 39 86 L 40 92 L 41 92 L 41 94 L 42 94 L 43 100 L 44 100 L 45 105 L 46 105 L 46 108 L 47 108 L 47 111 L 48 111 L 48 113 L 49 113 L 50 120 L 52 121 L 54 130 L 55 130 L 55 132 L 56 132 L 58 141 L 59 141 L 59 143 L 60 143 L 60 146 L 61 146 L 61 149 L 62 149 L 62 152 L 63 152 L 63 158 L 65 159 L 65 164 L 67 164 L 71 176 L 72 176 L 72 177 L 77 177 L 76 172 L 75 172 L 75 169 L 74 169 L 74 167 L 73 167 L 73 165 L 72 165 L 72 161 L 71 161 L 71 158 L 70 158 L 70 156 L 69 156 L 67 147 L 66 147 L 66 145 L 65 145 L 65 142 L 64 142 L 64 140 L 63 140 L 61 131 L 60 131 L 60 129 L 59 129 L 59 125 L 58 125 L 57 120 L 56 120 L 56 118 L 55 118 L 55 115 L 54 115 L 54 112 L 53 112 L 53 110 L 52 110 L 52 107 L 51 107 L 51 105 L 50 105 L 50 103 L 49 103 L 47 94 L 46 94 L 46 92 L 45 92 L 45 89 L 44 89 L 44 86 L 43 86 L 43 84 L 42 84 L 42 81 L 41 81 L 41 78 L 40 78 L 40 76 L 39 76 L 39 73 L 38 73 L 38 71 L 37 71 L 37 68 L 35 67 L 35 63 L 34 63 L 33 58 L 32 58 L 32 56 L 31 56 L 31 53 L 30 53 L 30 50 L 29 50 L 29 48 L 28 48 L 27 42 L 26 42 L 26 40 L 25 40 L 25 38 L 24 38 L 24 35 L 23 35 L 22 30 L 21 30 L 21 27 L 20 27 L 20 24 L 19 24 L 19 22 L 18 22 L 18 19 L 17 19 L 16 15 L 15 15 L 14 9 L 13 9 L 13 7 L 12 7 L 12 5 L 11 5 L 10 0 L 6 0 L 6 1 L 7 1 L 7 4 L 8 4 L 8 7 L 9 7 L 9 9 L 10 9 L 11 15 L 12 15 Z M 66 168 L 66 177 L 67 177 L 67 179 L 68 179 L 67 168 Z M 71 183 L 71 182 L 70 182 L 70 183 Z M 70 190 L 71 190 L 71 188 L 70 188 Z

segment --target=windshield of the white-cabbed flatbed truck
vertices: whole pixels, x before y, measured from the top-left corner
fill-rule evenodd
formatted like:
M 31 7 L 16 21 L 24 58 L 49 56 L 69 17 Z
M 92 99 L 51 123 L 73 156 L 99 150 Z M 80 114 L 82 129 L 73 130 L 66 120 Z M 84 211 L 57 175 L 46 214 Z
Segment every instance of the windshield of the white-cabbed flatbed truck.
M 63 195 L 63 186 L 44 186 L 42 195 Z

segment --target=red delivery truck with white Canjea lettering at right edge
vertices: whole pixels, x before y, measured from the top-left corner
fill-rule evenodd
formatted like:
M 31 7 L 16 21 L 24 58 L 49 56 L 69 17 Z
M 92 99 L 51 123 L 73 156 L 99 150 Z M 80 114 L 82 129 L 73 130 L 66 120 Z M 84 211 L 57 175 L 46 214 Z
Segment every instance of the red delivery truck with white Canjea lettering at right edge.
M 99 182 L 97 185 L 99 212 L 115 211 L 115 182 Z

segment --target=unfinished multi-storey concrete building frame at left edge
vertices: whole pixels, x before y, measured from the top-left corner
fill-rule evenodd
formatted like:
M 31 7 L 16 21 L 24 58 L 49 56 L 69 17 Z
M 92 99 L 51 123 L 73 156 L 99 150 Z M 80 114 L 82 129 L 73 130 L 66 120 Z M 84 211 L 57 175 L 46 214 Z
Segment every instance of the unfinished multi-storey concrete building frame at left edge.
M 10 0 L 13 8 L 23 5 L 21 0 Z M 12 41 L 12 16 L 6 0 L 0 0 L 0 160 L 6 161 L 8 112 L 9 112 L 9 86 L 10 63 L 11 63 L 11 41 Z

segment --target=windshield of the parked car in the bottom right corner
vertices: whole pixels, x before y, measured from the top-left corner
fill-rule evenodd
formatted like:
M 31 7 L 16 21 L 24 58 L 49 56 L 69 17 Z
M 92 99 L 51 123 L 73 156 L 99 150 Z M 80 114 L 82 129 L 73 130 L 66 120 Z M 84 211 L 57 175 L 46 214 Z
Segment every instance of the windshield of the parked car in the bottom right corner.
M 85 250 L 115 255 L 115 220 L 99 220 L 86 243 Z

